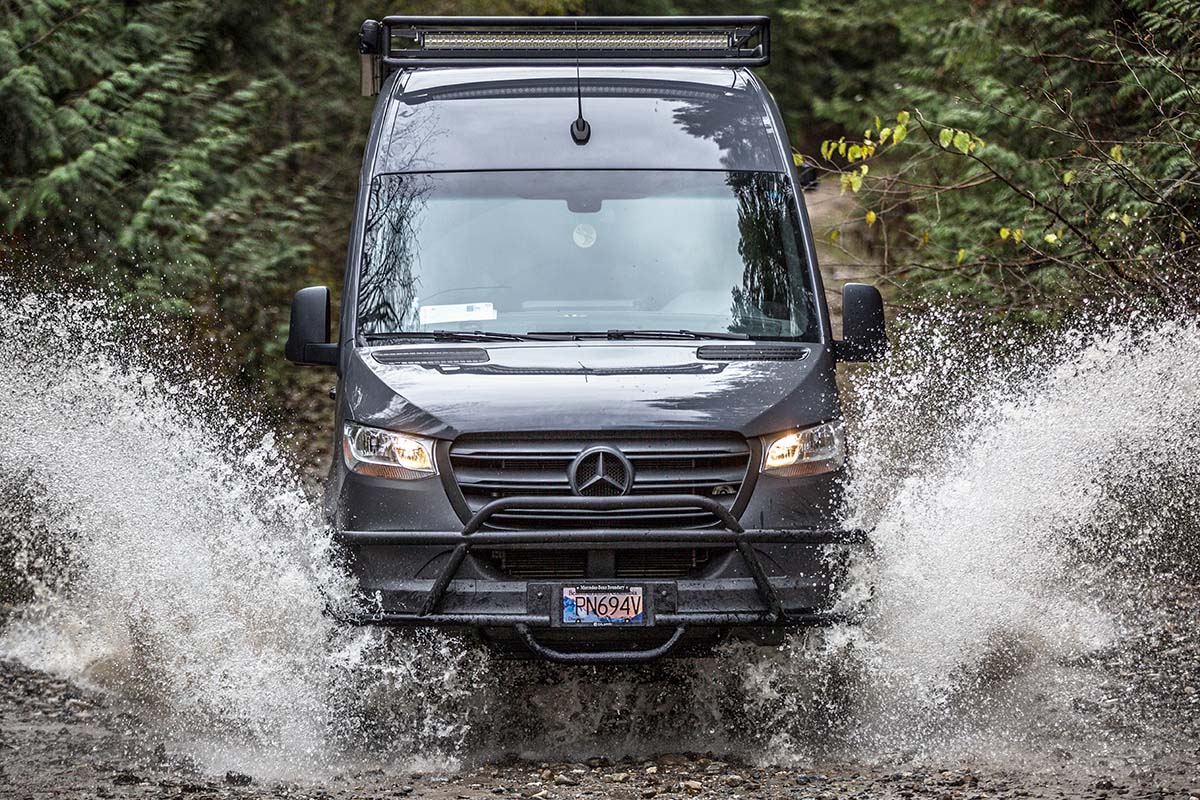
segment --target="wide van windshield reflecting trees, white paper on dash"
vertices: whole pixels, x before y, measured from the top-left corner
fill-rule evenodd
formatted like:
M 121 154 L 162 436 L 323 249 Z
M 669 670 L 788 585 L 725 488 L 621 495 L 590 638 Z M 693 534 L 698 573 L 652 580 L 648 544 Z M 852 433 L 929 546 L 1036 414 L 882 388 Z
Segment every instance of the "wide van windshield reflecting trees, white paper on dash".
M 761 172 L 372 180 L 358 333 L 689 330 L 815 341 L 794 199 Z

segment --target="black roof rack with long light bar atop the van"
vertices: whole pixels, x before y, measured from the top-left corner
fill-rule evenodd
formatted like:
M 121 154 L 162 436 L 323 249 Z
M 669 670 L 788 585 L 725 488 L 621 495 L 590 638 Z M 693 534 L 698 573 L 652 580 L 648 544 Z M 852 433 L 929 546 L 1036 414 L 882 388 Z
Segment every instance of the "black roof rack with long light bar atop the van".
M 722 66 L 770 60 L 767 17 L 384 17 L 359 31 L 362 92 L 404 67 Z

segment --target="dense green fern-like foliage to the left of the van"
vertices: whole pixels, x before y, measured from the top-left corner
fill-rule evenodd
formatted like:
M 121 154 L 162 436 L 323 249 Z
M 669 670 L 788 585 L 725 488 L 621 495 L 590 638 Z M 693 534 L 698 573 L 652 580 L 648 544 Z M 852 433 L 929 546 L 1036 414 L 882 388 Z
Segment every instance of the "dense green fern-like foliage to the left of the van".
M 302 172 L 319 132 L 280 125 L 302 91 L 282 68 L 287 10 L 37 0 L 0 11 L 4 270 L 175 318 L 192 338 L 252 354 L 241 374 L 260 379 L 262 344 L 277 337 L 323 216 Z

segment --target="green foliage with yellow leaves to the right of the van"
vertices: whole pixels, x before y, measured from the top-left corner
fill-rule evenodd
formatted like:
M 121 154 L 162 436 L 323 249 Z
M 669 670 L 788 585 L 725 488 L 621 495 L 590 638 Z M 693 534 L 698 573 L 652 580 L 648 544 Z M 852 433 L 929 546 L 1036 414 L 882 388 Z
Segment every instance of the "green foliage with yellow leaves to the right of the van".
M 869 102 L 912 109 L 906 142 L 881 143 L 857 185 L 840 140 L 821 154 L 877 210 L 907 295 L 1034 319 L 1087 295 L 1198 302 L 1200 7 L 886 2 L 884 14 L 904 47 Z

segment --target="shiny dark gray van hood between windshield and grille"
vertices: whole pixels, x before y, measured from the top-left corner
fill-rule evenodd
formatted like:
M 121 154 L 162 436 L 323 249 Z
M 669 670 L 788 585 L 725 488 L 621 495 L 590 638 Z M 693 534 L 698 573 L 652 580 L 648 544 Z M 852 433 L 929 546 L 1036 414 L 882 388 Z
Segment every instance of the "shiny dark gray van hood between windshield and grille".
M 660 428 L 756 437 L 839 415 L 824 345 L 790 347 L 786 360 L 762 347 L 770 351 L 691 341 L 359 348 L 342 380 L 344 416 L 455 439 Z

